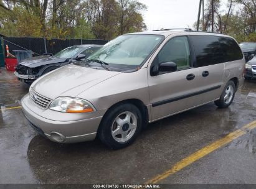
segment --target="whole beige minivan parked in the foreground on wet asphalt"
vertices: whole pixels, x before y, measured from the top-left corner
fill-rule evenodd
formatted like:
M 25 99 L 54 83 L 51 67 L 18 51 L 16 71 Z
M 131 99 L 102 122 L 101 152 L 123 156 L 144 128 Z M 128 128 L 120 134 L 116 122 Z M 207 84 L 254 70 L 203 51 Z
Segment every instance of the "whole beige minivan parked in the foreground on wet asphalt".
M 31 126 L 55 142 L 96 136 L 130 145 L 146 124 L 215 102 L 227 108 L 244 83 L 245 59 L 228 35 L 173 30 L 126 34 L 85 62 L 36 80 L 21 100 Z

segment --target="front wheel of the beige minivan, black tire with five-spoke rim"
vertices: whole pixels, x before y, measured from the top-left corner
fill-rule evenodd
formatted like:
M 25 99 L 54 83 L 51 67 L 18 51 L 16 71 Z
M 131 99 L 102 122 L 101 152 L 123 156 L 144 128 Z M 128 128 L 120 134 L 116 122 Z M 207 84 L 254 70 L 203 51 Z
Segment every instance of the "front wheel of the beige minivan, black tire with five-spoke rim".
M 133 104 L 120 104 L 103 117 L 98 137 L 111 149 L 121 149 L 135 141 L 141 128 L 140 110 Z

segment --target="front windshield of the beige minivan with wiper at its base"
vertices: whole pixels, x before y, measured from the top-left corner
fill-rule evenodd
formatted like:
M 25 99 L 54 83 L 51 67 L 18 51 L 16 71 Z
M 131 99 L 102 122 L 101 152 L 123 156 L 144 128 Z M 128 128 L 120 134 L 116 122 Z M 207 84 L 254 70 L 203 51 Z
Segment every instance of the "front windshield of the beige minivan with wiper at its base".
M 88 60 L 100 60 L 115 71 L 138 68 L 163 39 L 163 35 L 121 35 L 90 55 Z

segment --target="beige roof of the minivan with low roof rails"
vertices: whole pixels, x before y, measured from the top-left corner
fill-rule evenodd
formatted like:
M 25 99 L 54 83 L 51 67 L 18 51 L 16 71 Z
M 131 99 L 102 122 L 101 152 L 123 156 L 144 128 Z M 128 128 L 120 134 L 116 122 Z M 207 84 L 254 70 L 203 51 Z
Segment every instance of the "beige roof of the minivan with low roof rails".
M 224 34 L 219 34 L 216 32 L 196 32 L 196 31 L 185 31 L 185 30 L 153 30 L 153 31 L 145 31 L 145 32 L 136 32 L 136 33 L 131 33 L 128 35 L 133 35 L 133 34 L 151 34 L 151 35 L 164 35 L 165 37 L 168 37 L 169 35 L 172 34 L 182 34 L 182 35 L 216 35 L 216 36 L 225 36 L 225 37 L 230 37 L 229 35 L 224 35 Z

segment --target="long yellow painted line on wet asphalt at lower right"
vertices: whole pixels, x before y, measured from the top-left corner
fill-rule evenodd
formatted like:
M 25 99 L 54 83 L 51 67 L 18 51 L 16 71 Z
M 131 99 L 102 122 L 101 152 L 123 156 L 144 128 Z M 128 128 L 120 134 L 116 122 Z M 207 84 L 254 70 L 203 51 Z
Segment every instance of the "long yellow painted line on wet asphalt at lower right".
M 160 175 L 152 178 L 146 184 L 148 183 L 158 183 L 160 180 L 163 180 L 164 178 L 169 177 L 170 175 L 173 175 L 174 173 L 178 172 L 179 170 L 183 169 L 184 167 L 187 167 L 188 165 L 196 162 L 197 160 L 201 159 L 202 157 L 210 154 L 216 149 L 219 149 L 220 147 L 223 147 L 225 144 L 228 144 L 229 142 L 234 141 L 240 136 L 243 136 L 247 132 L 244 130 L 252 130 L 256 128 L 256 121 L 250 122 L 249 124 L 245 125 L 241 129 L 238 129 L 234 132 L 231 132 L 227 136 L 223 137 L 222 139 L 219 139 L 218 141 L 212 142 L 212 144 L 207 145 L 206 147 L 203 147 L 201 150 L 198 150 L 194 154 L 189 155 L 188 157 L 184 158 L 183 160 L 179 161 L 177 164 L 173 165 L 169 170 L 166 170 L 164 173 L 161 173 Z

